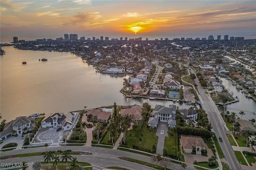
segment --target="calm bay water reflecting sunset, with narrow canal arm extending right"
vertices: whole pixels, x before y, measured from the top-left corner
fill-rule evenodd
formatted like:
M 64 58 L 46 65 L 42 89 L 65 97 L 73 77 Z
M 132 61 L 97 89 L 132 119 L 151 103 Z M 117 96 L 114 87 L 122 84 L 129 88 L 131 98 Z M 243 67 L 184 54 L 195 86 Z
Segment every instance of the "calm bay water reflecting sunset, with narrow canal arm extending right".
M 126 98 L 119 90 L 130 75 L 101 74 L 94 66 L 65 52 L 18 50 L 2 47 L 0 56 L 0 107 L 3 119 L 10 121 L 34 112 L 55 113 L 148 102 L 168 106 L 172 101 Z M 38 59 L 48 59 L 42 62 Z M 22 64 L 26 61 L 27 64 Z M 180 109 L 188 108 L 182 103 Z

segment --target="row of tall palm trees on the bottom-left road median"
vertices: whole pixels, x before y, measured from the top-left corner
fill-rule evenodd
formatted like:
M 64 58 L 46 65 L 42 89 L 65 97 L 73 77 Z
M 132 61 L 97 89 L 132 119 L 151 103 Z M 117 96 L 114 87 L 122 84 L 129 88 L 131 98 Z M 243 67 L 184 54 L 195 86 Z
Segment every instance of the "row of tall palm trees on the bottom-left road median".
M 61 156 L 62 162 L 66 162 L 66 169 L 68 169 L 68 160 L 71 160 L 71 164 L 70 164 L 70 170 L 76 170 L 78 161 L 76 157 L 72 157 L 70 155 L 70 150 L 64 150 L 64 152 L 62 153 Z M 44 155 L 44 162 L 47 162 L 49 164 L 49 169 L 50 169 L 50 161 L 53 160 L 53 166 L 56 165 L 56 170 L 58 170 L 57 167 L 57 163 L 60 161 L 60 156 L 57 156 L 57 154 L 55 154 L 55 156 L 52 154 L 51 151 L 46 151 L 45 155 Z

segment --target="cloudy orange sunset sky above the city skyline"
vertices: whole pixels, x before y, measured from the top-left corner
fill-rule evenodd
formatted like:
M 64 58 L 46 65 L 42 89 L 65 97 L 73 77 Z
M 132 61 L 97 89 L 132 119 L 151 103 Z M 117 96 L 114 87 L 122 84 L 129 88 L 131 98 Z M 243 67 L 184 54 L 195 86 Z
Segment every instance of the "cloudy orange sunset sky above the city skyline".
M 256 39 L 256 1 L 1 0 L 1 41 L 224 35 Z

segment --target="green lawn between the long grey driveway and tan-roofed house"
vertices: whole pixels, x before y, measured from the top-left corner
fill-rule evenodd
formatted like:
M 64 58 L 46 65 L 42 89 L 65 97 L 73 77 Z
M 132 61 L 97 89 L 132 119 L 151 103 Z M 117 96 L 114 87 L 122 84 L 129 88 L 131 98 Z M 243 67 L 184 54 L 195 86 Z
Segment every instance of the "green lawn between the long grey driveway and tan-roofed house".
M 164 145 L 167 148 L 168 155 L 170 155 L 170 154 L 177 155 L 178 154 L 177 133 L 173 132 L 173 136 L 165 137 Z M 174 153 L 174 149 L 172 149 L 172 147 L 176 147 L 175 153 Z

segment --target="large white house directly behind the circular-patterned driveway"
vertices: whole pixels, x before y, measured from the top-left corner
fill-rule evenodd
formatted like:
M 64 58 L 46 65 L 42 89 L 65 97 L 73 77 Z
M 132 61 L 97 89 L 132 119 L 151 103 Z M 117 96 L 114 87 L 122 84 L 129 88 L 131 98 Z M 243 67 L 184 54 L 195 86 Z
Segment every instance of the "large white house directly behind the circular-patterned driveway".
M 79 112 L 50 113 L 41 122 L 42 128 L 61 127 L 64 130 L 72 129 Z

